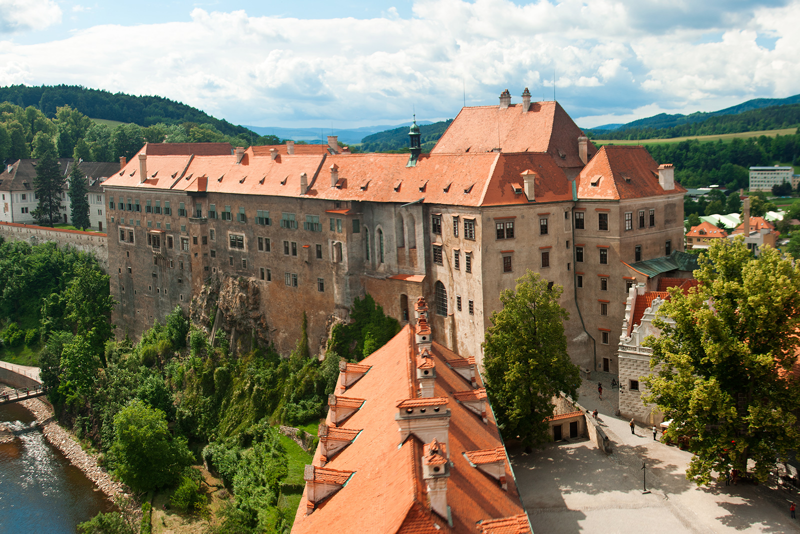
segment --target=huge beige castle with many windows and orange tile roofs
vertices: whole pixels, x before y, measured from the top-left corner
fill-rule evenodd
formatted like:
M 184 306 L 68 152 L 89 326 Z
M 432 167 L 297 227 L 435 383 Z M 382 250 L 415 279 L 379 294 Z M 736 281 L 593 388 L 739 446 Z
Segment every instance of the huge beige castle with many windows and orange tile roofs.
M 223 294 L 218 313 L 238 334 L 288 353 L 306 311 L 324 350 L 354 297 L 370 293 L 402 324 L 426 297 L 437 341 L 480 367 L 500 292 L 532 269 L 566 289 L 574 361 L 615 372 L 610 333 L 640 276 L 625 263 L 683 246 L 671 165 L 642 146 L 598 149 L 527 91 L 463 108 L 430 154 L 416 125 L 410 154 L 334 145 L 146 145 L 104 183 L 115 324 L 138 337 L 174 306 L 215 309 Z

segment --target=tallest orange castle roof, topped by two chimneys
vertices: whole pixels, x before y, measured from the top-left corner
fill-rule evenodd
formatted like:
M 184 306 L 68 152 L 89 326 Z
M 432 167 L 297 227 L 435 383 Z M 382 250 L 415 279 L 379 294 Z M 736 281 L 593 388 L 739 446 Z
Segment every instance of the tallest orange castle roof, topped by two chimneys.
M 558 102 L 532 102 L 527 111 L 522 104 L 506 109 L 464 107 L 431 153 L 486 153 L 499 148 L 502 152 L 549 153 L 559 167 L 582 167 L 578 157 L 578 137 L 582 135 Z M 597 147 L 589 141 L 589 157 L 596 152 Z

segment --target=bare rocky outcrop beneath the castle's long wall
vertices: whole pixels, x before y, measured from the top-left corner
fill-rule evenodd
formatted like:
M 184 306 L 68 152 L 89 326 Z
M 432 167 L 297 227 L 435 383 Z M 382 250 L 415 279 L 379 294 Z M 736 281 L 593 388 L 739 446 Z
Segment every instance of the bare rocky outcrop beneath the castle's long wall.
M 250 338 L 258 345 L 268 345 L 269 330 L 261 304 L 261 289 L 254 278 L 222 275 L 210 278 L 202 286 L 198 297 L 192 300 L 190 318 L 210 333 L 219 311 L 217 329 L 230 333 L 232 341 Z M 235 343 L 231 343 L 234 347 Z

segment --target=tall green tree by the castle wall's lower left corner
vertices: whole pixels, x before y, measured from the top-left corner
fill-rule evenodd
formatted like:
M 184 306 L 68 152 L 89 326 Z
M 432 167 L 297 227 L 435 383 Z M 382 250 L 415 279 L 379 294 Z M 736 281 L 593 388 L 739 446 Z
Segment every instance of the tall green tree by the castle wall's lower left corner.
M 74 325 L 76 335 L 86 338 L 94 355 L 105 366 L 106 340 L 115 328 L 109 321 L 114 311 L 109 277 L 91 265 L 77 265 L 74 275 L 64 295 L 66 320 Z

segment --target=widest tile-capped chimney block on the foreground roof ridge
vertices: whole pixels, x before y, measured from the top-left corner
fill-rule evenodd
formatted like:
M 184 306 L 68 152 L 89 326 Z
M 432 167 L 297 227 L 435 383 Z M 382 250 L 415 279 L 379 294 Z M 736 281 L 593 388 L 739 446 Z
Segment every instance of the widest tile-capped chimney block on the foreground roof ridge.
M 397 405 L 398 412 L 394 415 L 400 432 L 399 443 L 402 444 L 410 434 L 414 434 L 423 443 L 430 443 L 435 439 L 439 443 L 449 444 L 450 408 L 447 408 L 448 401 L 447 397 L 424 397 L 400 401 Z

